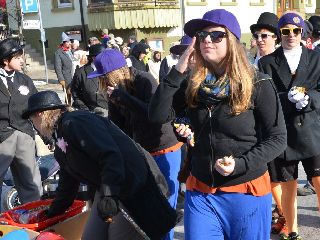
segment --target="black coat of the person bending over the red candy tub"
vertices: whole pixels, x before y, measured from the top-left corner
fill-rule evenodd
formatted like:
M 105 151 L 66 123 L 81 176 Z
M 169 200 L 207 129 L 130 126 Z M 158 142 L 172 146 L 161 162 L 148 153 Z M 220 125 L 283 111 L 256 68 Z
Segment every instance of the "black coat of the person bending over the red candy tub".
M 73 203 L 80 182 L 95 188 L 101 197 L 120 199 L 129 199 L 145 187 L 145 159 L 136 144 L 110 120 L 86 111 L 63 113 L 57 139 L 62 137 L 68 147 L 66 153 L 58 146 L 54 152 L 60 174 L 49 216 L 64 212 Z M 157 171 L 156 179 L 160 179 L 163 192 L 168 195 L 166 181 L 158 168 Z

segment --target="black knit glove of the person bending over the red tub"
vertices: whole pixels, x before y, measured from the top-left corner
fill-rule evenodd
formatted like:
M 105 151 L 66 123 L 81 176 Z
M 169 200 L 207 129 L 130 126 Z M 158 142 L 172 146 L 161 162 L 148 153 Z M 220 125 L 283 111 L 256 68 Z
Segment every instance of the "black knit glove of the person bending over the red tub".
M 107 221 L 108 218 L 116 216 L 119 212 L 118 205 L 118 198 L 116 196 L 102 197 L 97 205 L 99 218 Z

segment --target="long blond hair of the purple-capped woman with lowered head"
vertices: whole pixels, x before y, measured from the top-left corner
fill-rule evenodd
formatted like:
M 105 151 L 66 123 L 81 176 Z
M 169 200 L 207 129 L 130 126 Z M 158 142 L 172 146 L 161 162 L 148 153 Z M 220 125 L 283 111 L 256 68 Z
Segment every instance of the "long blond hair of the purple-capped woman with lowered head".
M 109 95 L 107 93 L 108 86 L 114 87 L 117 84 L 119 85 L 119 87 L 123 88 L 126 92 L 128 92 L 129 95 L 133 95 L 133 93 L 135 92 L 133 79 L 131 78 L 130 69 L 128 68 L 127 65 L 117 70 L 108 72 L 104 76 L 108 79 L 108 83 L 104 81 L 105 79 L 99 76 L 98 77 L 98 82 L 99 82 L 98 93 L 101 93 L 102 95 L 104 95 L 108 101 L 109 101 Z M 111 101 L 117 104 L 114 100 L 111 99 Z

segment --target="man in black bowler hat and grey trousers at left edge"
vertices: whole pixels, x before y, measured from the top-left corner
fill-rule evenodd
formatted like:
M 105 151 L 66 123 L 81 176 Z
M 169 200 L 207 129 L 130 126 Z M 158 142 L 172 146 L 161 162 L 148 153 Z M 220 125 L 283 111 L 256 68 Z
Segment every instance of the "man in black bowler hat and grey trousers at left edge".
M 39 200 L 43 194 L 34 131 L 31 122 L 20 116 L 37 92 L 31 78 L 19 72 L 24 46 L 11 38 L 0 42 L 0 182 L 10 167 L 21 204 Z

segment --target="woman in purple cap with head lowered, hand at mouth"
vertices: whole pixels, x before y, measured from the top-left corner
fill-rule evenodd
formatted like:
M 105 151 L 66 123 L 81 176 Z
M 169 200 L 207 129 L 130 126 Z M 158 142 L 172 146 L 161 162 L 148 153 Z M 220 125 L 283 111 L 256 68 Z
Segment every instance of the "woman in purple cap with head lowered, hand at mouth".
M 149 101 L 158 86 L 156 79 L 147 72 L 129 68 L 123 54 L 112 49 L 100 53 L 94 64 L 97 70 L 88 78 L 98 77 L 98 92 L 108 100 L 108 119 L 155 159 L 169 186 L 168 202 L 175 209 L 183 143 L 178 141 L 171 123 L 152 124 L 148 119 Z M 163 239 L 173 239 L 173 229 Z

